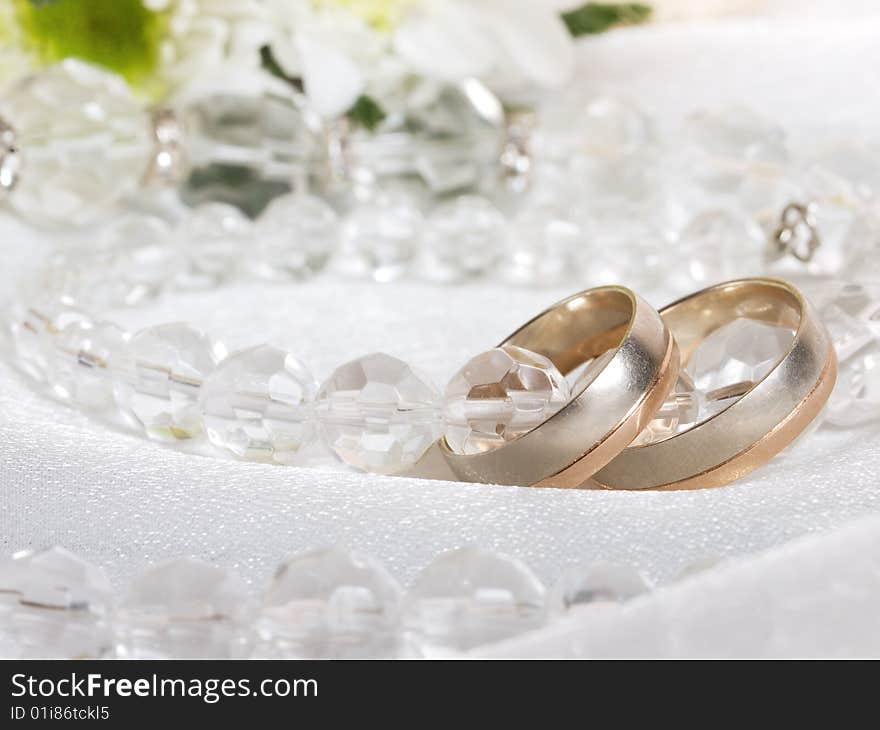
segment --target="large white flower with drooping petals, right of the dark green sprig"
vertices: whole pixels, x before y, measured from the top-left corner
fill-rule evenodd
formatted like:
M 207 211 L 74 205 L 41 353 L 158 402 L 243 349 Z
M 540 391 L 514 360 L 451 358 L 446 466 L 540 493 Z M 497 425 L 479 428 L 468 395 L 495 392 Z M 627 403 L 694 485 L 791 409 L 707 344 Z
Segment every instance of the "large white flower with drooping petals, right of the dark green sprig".
M 268 0 L 275 58 L 301 77 L 315 110 L 344 114 L 358 96 L 380 103 L 413 77 L 477 77 L 502 95 L 558 88 L 574 66 L 553 3 L 535 0 Z

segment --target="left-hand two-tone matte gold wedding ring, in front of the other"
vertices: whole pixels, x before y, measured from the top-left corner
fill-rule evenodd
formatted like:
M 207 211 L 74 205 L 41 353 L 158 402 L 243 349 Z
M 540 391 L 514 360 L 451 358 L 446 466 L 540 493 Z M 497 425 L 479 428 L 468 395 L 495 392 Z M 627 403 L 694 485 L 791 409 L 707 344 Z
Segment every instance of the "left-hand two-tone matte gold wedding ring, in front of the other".
M 651 420 L 678 378 L 675 340 L 657 311 L 619 286 L 574 294 L 505 339 L 545 355 L 566 375 L 604 366 L 540 426 L 491 451 L 434 443 L 404 476 L 538 487 L 583 487 Z M 606 354 L 607 353 L 607 354 Z

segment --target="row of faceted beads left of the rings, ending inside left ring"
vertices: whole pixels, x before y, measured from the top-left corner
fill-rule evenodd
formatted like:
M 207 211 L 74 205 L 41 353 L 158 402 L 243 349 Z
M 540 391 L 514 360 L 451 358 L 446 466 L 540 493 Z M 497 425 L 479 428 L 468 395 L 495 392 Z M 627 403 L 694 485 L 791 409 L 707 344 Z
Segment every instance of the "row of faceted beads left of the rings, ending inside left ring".
M 455 451 L 497 448 L 570 398 L 545 357 L 522 348 L 478 355 L 441 396 L 407 363 L 373 353 L 322 385 L 293 354 L 258 345 L 228 354 L 185 323 L 133 335 L 41 294 L 12 311 L 18 363 L 60 399 L 117 409 L 151 439 L 207 436 L 241 459 L 298 463 L 317 438 L 346 464 L 384 474 L 411 466 L 439 438 Z

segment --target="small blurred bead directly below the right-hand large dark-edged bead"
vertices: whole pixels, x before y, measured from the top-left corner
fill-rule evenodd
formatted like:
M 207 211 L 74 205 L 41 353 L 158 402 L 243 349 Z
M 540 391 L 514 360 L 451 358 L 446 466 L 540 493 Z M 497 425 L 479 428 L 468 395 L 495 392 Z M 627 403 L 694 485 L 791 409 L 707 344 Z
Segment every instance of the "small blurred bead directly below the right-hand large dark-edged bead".
M 441 203 L 422 239 L 425 276 L 452 281 L 486 273 L 498 260 L 504 236 L 504 216 L 486 198 L 462 195 Z

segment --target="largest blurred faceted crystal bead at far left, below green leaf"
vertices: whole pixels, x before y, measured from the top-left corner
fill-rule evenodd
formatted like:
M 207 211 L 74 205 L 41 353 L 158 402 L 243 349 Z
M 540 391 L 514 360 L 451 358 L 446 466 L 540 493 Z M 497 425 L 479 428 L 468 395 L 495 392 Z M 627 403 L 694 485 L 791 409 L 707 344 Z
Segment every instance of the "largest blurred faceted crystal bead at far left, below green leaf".
M 31 222 L 90 223 L 147 170 L 149 116 L 114 74 L 68 59 L 24 79 L 0 107 L 21 154 L 10 203 Z

